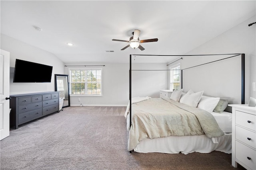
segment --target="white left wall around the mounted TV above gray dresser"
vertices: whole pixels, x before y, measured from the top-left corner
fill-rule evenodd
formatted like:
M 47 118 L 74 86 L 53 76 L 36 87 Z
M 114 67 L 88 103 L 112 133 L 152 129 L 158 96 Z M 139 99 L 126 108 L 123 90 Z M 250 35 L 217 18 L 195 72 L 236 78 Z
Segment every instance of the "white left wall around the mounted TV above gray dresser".
M 4 34 L 1 34 L 1 49 L 10 52 L 10 67 L 12 68 L 15 66 L 16 59 L 53 66 L 50 83 L 14 83 L 12 71 L 10 73 L 11 95 L 55 91 L 54 74 L 64 74 L 64 63 L 55 55 Z

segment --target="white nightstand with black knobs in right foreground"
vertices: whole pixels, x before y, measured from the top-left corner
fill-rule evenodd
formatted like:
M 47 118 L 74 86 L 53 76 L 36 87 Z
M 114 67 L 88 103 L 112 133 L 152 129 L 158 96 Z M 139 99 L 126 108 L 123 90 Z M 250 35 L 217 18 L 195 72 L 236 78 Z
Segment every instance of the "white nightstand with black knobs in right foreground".
M 229 104 L 232 107 L 232 166 L 237 163 L 256 169 L 256 107 Z

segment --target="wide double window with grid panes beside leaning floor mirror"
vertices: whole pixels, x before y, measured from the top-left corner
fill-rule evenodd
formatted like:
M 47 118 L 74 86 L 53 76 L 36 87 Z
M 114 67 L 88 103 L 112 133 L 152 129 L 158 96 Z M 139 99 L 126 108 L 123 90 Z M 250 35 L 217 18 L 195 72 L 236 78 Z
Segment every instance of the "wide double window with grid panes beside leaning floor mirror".
M 70 95 L 102 96 L 102 69 L 70 69 Z

